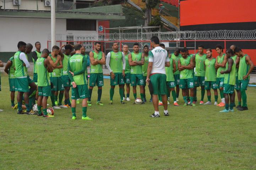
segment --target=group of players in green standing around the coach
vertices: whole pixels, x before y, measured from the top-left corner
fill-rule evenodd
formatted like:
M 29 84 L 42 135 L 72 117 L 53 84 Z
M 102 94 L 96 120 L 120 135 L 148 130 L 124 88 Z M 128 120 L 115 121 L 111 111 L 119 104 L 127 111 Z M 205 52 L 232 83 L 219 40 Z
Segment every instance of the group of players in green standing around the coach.
M 48 96 L 50 96 L 54 109 L 71 107 L 72 119 L 76 119 L 76 103 L 79 102 L 79 99 L 82 99 L 82 119 L 91 120 L 86 113 L 87 106 L 92 105 L 92 90 L 96 85 L 98 87 L 96 104 L 103 105 L 100 101 L 102 96 L 102 86 L 104 85 L 103 64 L 106 64 L 110 72 L 111 87 L 109 104 L 113 104 L 114 89 L 116 85 L 119 85 L 121 104 L 125 104 L 125 100 L 131 101 L 130 84 L 132 86 L 134 98 L 137 98 L 136 87 L 139 85 L 142 104 L 147 101 L 145 95 L 147 75 L 150 74 L 148 77 L 152 77 L 153 75 L 148 73 L 148 63 L 152 62 L 149 61 L 149 53 L 153 58 L 153 50 L 149 52 L 148 45 L 143 47 L 143 52 L 139 52 L 140 47 L 138 43 L 134 43 L 132 52 L 129 52 L 127 45 L 123 45 L 121 52 L 119 51 L 118 42 L 114 42 L 112 45 L 113 51 L 109 52 L 107 57 L 104 52 L 100 51 L 100 42 L 94 43 L 94 50 L 89 53 L 89 56 L 86 55 L 85 47 L 81 44 L 76 44 L 75 46 L 67 44 L 60 48 L 58 46 L 53 46 L 51 53 L 48 49 L 40 51 L 40 42 L 36 42 L 35 47 L 36 51 L 32 52 L 32 59 L 34 62 L 33 80 L 29 77 L 27 71 L 30 67 L 27 54 L 33 49 L 31 44 L 26 44 L 22 41 L 18 42 L 18 51 L 9 59 L 5 67 L 5 72 L 9 74 L 11 105 L 14 108 L 16 107 L 14 104 L 15 91 L 18 91 L 18 114 L 35 114 L 32 110 L 34 103 L 29 102 L 29 98 L 34 96 L 34 100 L 37 100 L 38 115 L 54 117 L 47 113 L 47 99 Z M 160 51 L 165 49 L 164 44 L 159 45 L 158 43 L 157 47 L 160 48 Z M 223 53 L 223 47 L 221 45 L 217 45 L 215 49 L 218 53 L 216 59 L 213 58 L 211 49 L 207 49 L 205 54 L 202 45 L 198 46 L 198 53 L 195 55 L 189 54 L 189 50 L 186 48 L 176 48 L 174 53 L 168 54 L 168 62 L 170 62 L 170 64 L 165 67 L 165 82 L 160 82 L 159 86 L 164 84 L 168 89 L 165 93 L 168 99 L 170 98 L 171 93 L 174 106 L 179 106 L 177 101 L 179 101 L 180 89 L 182 89 L 182 95 L 185 102 L 184 106 L 196 106 L 196 91 L 197 87 L 201 86 L 200 104 L 211 104 L 210 89 L 212 88 L 214 90 L 215 98 L 214 105 L 220 107 L 225 106 L 225 109 L 221 112 L 234 111 L 234 89 L 236 89 L 238 96 L 238 106 L 236 108 L 240 111 L 248 109 L 245 90 L 249 84 L 249 74 L 254 67 L 250 57 L 234 45 L 232 45 L 230 49 L 227 49 L 225 53 Z M 91 70 L 88 88 L 87 66 L 90 64 Z M 3 67 L 1 62 L 0 67 Z M 125 85 L 126 97 L 124 92 Z M 72 87 L 71 102 L 69 98 L 70 86 Z M 217 103 L 217 89 L 219 89 L 221 97 L 221 102 L 219 104 Z M 208 99 L 206 103 L 203 102 L 205 90 L 207 91 Z M 65 100 L 64 105 L 62 105 L 64 95 Z M 152 96 L 154 95 L 156 94 L 151 93 L 151 102 Z M 157 95 L 159 98 L 158 105 L 165 105 L 163 104 L 164 101 L 162 102 L 164 94 L 159 92 Z M 58 97 L 59 102 L 57 101 Z M 241 99 L 243 100 L 242 105 Z M 24 106 L 22 105 L 23 100 L 25 103 Z M 23 110 L 24 108 L 26 108 L 26 111 Z M 43 110 L 43 113 L 41 109 Z M 153 115 L 157 115 L 157 112 Z M 166 112 L 164 115 L 169 114 Z

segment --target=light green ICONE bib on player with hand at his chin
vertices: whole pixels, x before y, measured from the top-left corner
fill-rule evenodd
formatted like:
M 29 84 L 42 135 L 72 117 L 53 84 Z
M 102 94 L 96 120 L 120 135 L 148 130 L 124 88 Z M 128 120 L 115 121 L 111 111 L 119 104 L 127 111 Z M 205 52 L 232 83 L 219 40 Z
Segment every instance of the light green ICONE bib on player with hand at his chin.
M 48 70 L 44 66 L 45 58 L 39 57 L 36 61 L 37 68 L 37 85 L 38 86 L 49 86 L 51 85 Z

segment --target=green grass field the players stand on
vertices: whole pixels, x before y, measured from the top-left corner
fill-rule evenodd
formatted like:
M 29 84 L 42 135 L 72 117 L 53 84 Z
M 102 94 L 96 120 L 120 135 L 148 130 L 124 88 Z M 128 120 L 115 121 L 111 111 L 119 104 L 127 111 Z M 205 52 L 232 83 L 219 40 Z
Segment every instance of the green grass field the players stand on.
M 77 120 L 71 120 L 70 108 L 55 109 L 55 117 L 47 119 L 17 115 L 4 73 L 1 82 L 1 170 L 256 169 L 255 87 L 247 90 L 249 111 L 219 113 L 223 108 L 213 105 L 170 104 L 169 117 L 161 107 L 161 117 L 150 118 L 152 103 L 121 105 L 118 88 L 109 105 L 109 80 L 104 80 L 104 106 L 96 106 L 94 89 L 87 112 L 94 120 L 87 121 L 81 120 L 81 104 Z M 149 100 L 148 89 L 146 96 Z M 179 100 L 183 104 L 181 92 Z

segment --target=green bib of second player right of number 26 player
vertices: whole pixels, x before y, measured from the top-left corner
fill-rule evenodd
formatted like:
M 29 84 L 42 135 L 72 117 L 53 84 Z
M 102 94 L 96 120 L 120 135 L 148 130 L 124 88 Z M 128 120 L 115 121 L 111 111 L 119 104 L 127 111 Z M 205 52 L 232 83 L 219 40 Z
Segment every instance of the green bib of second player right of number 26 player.
M 205 81 L 216 81 L 215 62 L 215 58 L 212 58 L 212 60 L 205 59 Z

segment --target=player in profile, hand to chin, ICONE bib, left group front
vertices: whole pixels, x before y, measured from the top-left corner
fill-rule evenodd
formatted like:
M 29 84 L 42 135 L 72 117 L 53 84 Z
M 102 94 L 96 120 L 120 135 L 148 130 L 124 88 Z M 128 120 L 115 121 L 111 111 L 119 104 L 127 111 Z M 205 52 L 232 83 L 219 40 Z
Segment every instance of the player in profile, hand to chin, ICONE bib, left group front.
M 51 82 L 49 78 L 49 73 L 53 72 L 53 67 L 49 60 L 47 59 L 49 55 L 49 50 L 44 49 L 41 53 L 41 56 L 36 61 L 36 69 L 37 69 L 37 85 L 38 85 L 38 100 L 37 100 L 37 108 L 38 108 L 38 116 L 42 115 L 41 108 L 43 107 L 43 117 L 54 117 L 54 115 L 50 115 L 47 113 L 47 99 L 48 96 L 51 96 Z

